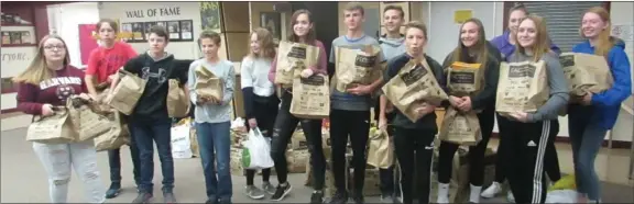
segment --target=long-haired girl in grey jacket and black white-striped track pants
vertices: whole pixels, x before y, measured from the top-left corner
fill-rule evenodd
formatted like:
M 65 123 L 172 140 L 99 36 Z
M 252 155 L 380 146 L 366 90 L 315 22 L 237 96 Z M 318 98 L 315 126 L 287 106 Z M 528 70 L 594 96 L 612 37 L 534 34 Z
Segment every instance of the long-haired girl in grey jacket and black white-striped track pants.
M 544 203 L 546 200 L 546 177 L 544 156 L 546 147 L 553 143 L 548 137 L 550 120 L 568 104 L 568 87 L 558 55 L 549 48 L 548 32 L 543 18 L 528 15 L 520 22 L 515 42 L 516 50 L 509 57 L 510 63 L 544 61 L 548 98 L 537 105 L 536 112 L 512 112 L 506 135 L 511 135 L 506 158 L 506 177 L 516 203 Z M 500 83 L 502 84 L 502 83 Z M 537 84 L 533 84 L 537 86 Z M 501 89 L 502 87 L 499 87 Z M 502 99 L 498 99 L 502 100 Z

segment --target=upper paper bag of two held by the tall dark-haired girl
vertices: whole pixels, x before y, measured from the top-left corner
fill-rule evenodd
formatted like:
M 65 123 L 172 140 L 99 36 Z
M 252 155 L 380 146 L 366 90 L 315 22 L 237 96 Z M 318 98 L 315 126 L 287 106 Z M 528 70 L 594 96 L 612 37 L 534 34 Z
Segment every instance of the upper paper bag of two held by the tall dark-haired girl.
M 281 41 L 275 65 L 275 83 L 292 84 L 302 70 L 317 66 L 318 60 L 319 47 Z

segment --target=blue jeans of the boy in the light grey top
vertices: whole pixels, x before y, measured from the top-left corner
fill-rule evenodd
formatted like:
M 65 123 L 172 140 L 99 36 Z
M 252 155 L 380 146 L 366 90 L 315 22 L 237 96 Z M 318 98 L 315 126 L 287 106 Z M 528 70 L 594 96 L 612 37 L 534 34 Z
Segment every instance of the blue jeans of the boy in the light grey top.
M 205 172 L 205 186 L 207 197 L 220 203 L 231 202 L 232 184 L 230 161 L 230 122 L 222 123 L 196 123 L 200 161 Z M 218 169 L 214 168 L 214 160 Z

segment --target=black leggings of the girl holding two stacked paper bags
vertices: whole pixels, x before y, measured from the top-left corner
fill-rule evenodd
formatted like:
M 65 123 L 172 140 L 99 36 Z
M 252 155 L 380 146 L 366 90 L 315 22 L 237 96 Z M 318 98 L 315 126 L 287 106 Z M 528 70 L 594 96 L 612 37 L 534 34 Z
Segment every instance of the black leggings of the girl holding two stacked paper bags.
M 286 147 L 288 141 L 297 128 L 297 123 L 304 129 L 308 151 L 310 152 L 310 167 L 313 175 L 313 188 L 315 190 L 323 190 L 326 179 L 326 158 L 324 157 L 324 148 L 321 146 L 321 120 L 304 120 L 297 118 L 291 114 L 291 101 L 293 94 L 284 91 L 282 93 L 282 106 L 277 117 L 275 118 L 275 126 L 273 128 L 273 140 L 271 145 L 271 157 L 275 161 L 275 172 L 277 173 L 277 181 L 286 183 L 288 177 L 288 167 L 286 161 Z

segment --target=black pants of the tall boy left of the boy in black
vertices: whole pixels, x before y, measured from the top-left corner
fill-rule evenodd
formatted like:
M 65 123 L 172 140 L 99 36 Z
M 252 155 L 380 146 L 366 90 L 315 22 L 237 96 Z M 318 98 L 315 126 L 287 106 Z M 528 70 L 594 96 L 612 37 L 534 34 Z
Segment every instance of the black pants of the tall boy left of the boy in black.
M 332 146 L 331 162 L 335 186 L 339 193 L 346 193 L 346 146 L 348 136 L 352 145 L 352 162 L 354 168 L 354 195 L 363 191 L 365 180 L 365 146 L 370 134 L 370 111 L 330 111 L 330 144 Z

